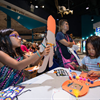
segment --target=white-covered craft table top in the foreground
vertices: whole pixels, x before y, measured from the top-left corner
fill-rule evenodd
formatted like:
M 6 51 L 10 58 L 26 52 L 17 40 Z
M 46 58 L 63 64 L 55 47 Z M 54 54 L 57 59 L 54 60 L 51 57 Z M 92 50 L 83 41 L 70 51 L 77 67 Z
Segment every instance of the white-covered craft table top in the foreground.
M 64 69 L 58 67 L 56 69 Z M 81 72 L 74 71 L 79 75 Z M 35 78 L 22 82 L 20 85 L 25 86 L 22 92 L 30 89 L 20 96 L 18 100 L 76 100 L 75 96 L 62 90 L 62 84 L 68 80 L 68 76 L 56 76 L 54 70 L 39 75 Z M 100 86 L 90 88 L 89 92 L 79 97 L 78 100 L 100 100 Z

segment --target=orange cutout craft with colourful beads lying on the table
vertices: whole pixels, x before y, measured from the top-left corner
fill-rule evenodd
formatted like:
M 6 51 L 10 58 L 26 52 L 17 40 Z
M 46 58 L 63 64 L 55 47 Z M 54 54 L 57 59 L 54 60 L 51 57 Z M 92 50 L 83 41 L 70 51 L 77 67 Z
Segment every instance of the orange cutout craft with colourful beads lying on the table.
M 89 87 L 100 86 L 100 81 L 95 81 L 98 77 L 87 77 L 85 72 L 81 72 L 79 76 L 75 72 L 71 74 L 72 80 L 65 81 L 62 84 L 62 89 L 76 96 L 76 98 L 86 95 Z

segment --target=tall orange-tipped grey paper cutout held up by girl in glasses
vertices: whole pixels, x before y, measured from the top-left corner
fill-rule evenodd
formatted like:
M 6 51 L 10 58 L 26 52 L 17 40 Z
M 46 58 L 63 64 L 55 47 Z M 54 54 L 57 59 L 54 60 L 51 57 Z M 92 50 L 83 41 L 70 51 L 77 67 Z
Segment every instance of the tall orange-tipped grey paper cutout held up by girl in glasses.
M 50 52 L 47 56 L 44 57 L 43 63 L 41 65 L 41 67 L 38 70 L 38 73 L 41 73 L 43 71 L 45 71 L 47 64 L 49 62 L 49 67 L 52 67 L 53 65 L 53 46 L 56 46 L 56 40 L 55 40 L 55 32 L 56 32 L 56 21 L 55 19 L 50 15 L 47 19 L 47 36 L 46 36 L 46 40 L 44 40 L 42 42 L 42 44 L 40 45 L 40 51 L 42 51 L 42 48 L 44 48 L 44 46 L 46 46 L 46 44 L 49 44 L 50 47 Z

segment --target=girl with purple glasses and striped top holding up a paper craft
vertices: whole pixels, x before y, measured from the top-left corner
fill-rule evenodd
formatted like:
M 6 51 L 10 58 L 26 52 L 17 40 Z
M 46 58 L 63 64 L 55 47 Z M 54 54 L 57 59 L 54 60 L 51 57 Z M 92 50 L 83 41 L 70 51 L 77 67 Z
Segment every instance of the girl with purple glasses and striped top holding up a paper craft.
M 25 80 L 23 69 L 29 64 L 38 63 L 50 51 L 50 47 L 47 46 L 42 53 L 37 51 L 33 56 L 27 57 L 20 46 L 21 38 L 17 31 L 13 29 L 0 31 L 0 65 L 2 65 L 0 67 L 0 90 L 23 82 Z

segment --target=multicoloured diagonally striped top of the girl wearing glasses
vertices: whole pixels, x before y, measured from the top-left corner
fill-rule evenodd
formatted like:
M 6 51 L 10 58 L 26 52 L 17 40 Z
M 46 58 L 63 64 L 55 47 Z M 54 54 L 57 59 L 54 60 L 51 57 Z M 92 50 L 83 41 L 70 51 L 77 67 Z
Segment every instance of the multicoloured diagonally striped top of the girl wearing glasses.
M 21 61 L 23 57 L 16 57 L 17 61 Z M 11 85 L 16 85 L 25 80 L 23 70 L 13 69 L 4 65 L 0 68 L 0 90 L 5 89 Z

